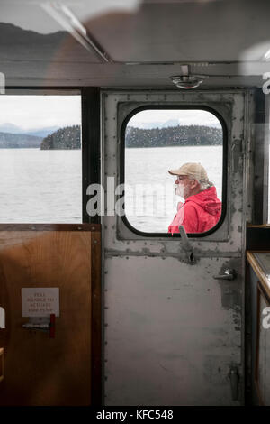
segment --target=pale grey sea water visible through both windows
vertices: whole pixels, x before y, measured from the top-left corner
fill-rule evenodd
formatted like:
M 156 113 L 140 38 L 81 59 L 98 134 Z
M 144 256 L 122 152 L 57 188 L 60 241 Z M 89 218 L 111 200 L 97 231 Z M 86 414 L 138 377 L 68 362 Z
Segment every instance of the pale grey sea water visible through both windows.
M 82 222 L 81 151 L 0 152 L 1 223 Z M 221 146 L 132 148 L 125 154 L 126 214 L 140 231 L 167 232 L 181 201 L 168 170 L 184 162 L 201 162 L 222 199 Z

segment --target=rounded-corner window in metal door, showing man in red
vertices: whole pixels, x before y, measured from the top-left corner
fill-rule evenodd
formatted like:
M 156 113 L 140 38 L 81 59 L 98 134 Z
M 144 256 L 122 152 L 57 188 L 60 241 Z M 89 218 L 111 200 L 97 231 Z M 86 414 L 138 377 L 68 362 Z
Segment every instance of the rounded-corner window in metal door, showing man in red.
M 226 124 L 209 107 L 139 107 L 121 127 L 123 220 L 139 235 L 208 235 L 226 206 Z

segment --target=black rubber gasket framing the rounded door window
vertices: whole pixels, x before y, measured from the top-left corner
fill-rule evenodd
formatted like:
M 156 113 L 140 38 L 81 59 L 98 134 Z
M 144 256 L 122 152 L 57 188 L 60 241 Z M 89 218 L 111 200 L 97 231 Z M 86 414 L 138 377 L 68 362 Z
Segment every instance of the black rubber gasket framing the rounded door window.
M 123 120 L 123 123 L 121 124 L 121 134 L 120 134 L 120 142 L 121 142 L 121 169 L 120 169 L 120 183 L 124 183 L 124 176 L 125 176 L 125 133 L 126 133 L 126 127 L 129 123 L 132 116 L 138 114 L 139 112 L 143 110 L 205 110 L 207 112 L 210 112 L 212 115 L 215 115 L 222 126 L 223 131 L 223 178 L 222 178 L 222 209 L 221 209 L 221 216 L 218 224 L 216 226 L 213 226 L 211 230 L 205 231 L 205 233 L 188 233 L 189 237 L 205 237 L 206 235 L 211 235 L 213 232 L 215 232 L 223 223 L 225 217 L 226 217 L 226 211 L 227 211 L 227 179 L 228 179 L 228 172 L 227 172 L 227 165 L 228 165 L 228 128 L 227 124 L 225 123 L 224 118 L 214 109 L 212 109 L 209 106 L 201 106 L 201 105 L 193 105 L 193 106 L 175 106 L 175 105 L 148 105 L 148 106 L 139 106 L 136 109 L 132 110 L 129 115 L 125 117 Z M 127 226 L 132 233 L 135 233 L 136 235 L 142 235 L 145 237 L 166 237 L 166 238 L 181 238 L 180 233 L 175 233 L 174 235 L 171 235 L 170 233 L 145 233 L 143 231 L 137 230 L 134 226 L 130 225 L 130 222 L 128 218 L 124 215 L 121 217 L 123 223 L 125 226 Z

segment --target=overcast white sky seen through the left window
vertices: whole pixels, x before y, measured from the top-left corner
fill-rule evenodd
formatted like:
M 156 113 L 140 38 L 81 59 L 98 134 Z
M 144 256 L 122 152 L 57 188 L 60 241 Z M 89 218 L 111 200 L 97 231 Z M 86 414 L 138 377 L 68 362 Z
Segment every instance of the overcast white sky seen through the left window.
M 0 96 L 0 124 L 24 130 L 81 124 L 80 96 Z

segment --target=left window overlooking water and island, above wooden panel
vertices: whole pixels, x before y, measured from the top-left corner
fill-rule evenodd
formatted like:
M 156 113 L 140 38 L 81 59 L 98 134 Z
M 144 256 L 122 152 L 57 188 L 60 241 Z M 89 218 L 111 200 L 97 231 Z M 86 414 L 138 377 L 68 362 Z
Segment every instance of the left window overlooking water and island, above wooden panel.
M 81 96 L 0 96 L 0 223 L 81 223 Z

